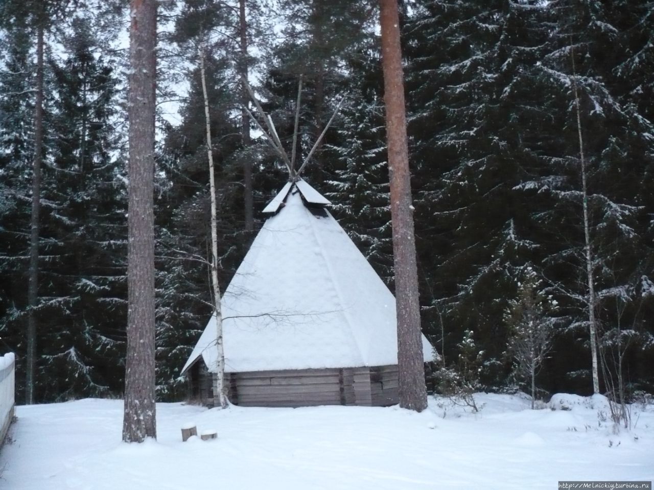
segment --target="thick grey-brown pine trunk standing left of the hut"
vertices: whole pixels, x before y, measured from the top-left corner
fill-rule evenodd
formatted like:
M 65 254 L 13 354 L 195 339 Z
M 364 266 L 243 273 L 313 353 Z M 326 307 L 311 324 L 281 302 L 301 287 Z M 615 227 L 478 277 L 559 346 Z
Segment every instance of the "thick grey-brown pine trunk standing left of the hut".
M 123 440 L 156 438 L 154 110 L 156 0 L 131 0 L 129 31 L 128 326 Z

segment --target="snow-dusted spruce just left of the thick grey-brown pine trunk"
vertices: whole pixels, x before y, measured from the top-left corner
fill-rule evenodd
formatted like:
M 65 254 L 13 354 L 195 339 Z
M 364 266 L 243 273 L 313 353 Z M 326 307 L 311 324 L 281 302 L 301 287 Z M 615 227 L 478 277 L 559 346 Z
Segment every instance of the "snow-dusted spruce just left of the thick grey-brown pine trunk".
M 54 186 L 45 197 L 56 210 L 44 216 L 55 238 L 44 274 L 51 301 L 62 304 L 56 324 L 67 325 L 44 346 L 42 370 L 56 376 L 47 387 L 50 397 L 120 389 L 124 333 L 116 323 L 126 314 L 126 201 L 114 125 L 118 81 L 112 60 L 94 56 L 99 42 L 92 20 L 77 16 L 67 27 L 65 57 L 50 61 L 56 94 L 50 127 L 58 137 L 48 165 Z

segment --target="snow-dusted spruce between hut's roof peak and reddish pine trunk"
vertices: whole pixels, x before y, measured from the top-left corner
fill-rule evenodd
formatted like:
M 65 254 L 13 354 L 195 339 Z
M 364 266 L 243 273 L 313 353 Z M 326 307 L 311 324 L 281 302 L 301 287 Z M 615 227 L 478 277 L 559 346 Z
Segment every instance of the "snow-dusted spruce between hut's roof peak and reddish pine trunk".
M 375 44 L 377 39 L 372 39 Z M 324 182 L 334 216 L 377 273 L 392 286 L 393 261 L 381 101 L 381 66 L 375 47 L 350 61 L 349 97 L 328 146 L 335 175 Z

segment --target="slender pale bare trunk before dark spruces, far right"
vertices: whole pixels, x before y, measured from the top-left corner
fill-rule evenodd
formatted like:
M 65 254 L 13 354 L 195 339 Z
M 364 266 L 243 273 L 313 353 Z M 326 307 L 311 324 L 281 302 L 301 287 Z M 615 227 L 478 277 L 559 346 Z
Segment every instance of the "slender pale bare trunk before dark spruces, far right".
M 572 56 L 572 74 L 576 77 L 574 62 L 574 50 Z M 579 92 L 577 91 L 576 78 L 572 84 L 574 91 L 575 107 L 577 112 L 577 134 L 579 136 L 579 159 L 581 163 L 581 199 L 583 206 L 583 238 L 584 238 L 584 259 L 586 266 L 586 280 L 588 286 L 588 323 L 591 336 L 591 363 L 593 368 L 593 393 L 600 392 L 600 377 L 597 361 L 597 321 L 595 319 L 595 286 L 593 278 L 593 251 L 591 250 L 591 228 L 588 214 L 588 184 L 586 172 L 586 159 L 583 152 L 583 134 L 581 131 L 581 108 L 579 106 Z

